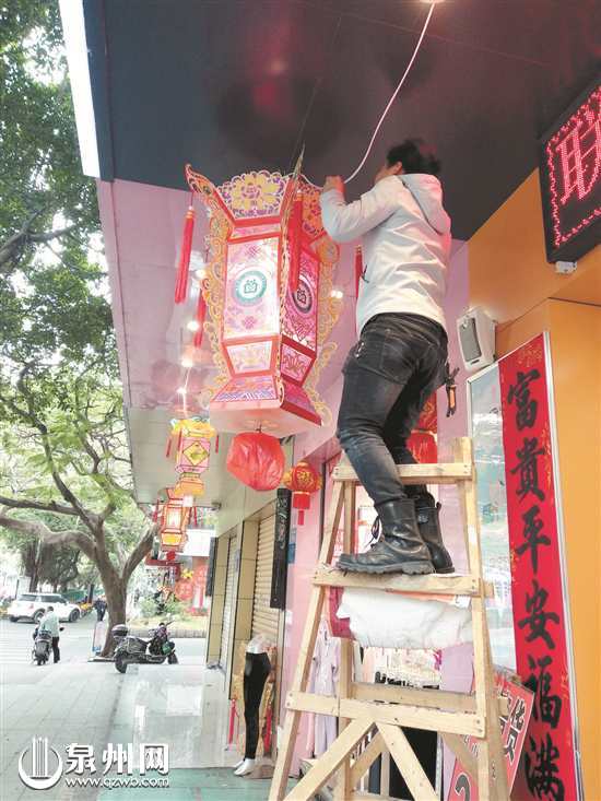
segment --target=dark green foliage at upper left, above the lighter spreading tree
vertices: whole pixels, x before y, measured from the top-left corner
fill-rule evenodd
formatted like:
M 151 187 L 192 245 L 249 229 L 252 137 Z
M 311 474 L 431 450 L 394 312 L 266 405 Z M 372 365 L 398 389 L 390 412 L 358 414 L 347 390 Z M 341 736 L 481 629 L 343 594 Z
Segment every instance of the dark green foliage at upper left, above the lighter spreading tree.
M 79 162 L 57 0 L 0 5 L 0 353 L 116 375 L 94 181 Z M 7 364 L 7 362 L 4 362 Z

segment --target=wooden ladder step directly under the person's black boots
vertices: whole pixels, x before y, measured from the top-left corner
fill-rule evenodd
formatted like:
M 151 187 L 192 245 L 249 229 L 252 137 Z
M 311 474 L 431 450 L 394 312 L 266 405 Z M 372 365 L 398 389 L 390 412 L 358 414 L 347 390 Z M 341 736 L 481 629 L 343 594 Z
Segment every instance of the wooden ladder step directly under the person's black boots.
M 362 587 L 374 590 L 396 592 L 420 592 L 436 596 L 480 596 L 480 579 L 476 576 L 403 576 L 393 574 L 367 575 L 364 573 L 343 573 L 338 567 L 319 565 L 313 577 L 314 585 L 322 587 Z M 491 584 L 483 581 L 483 594 L 493 598 Z

